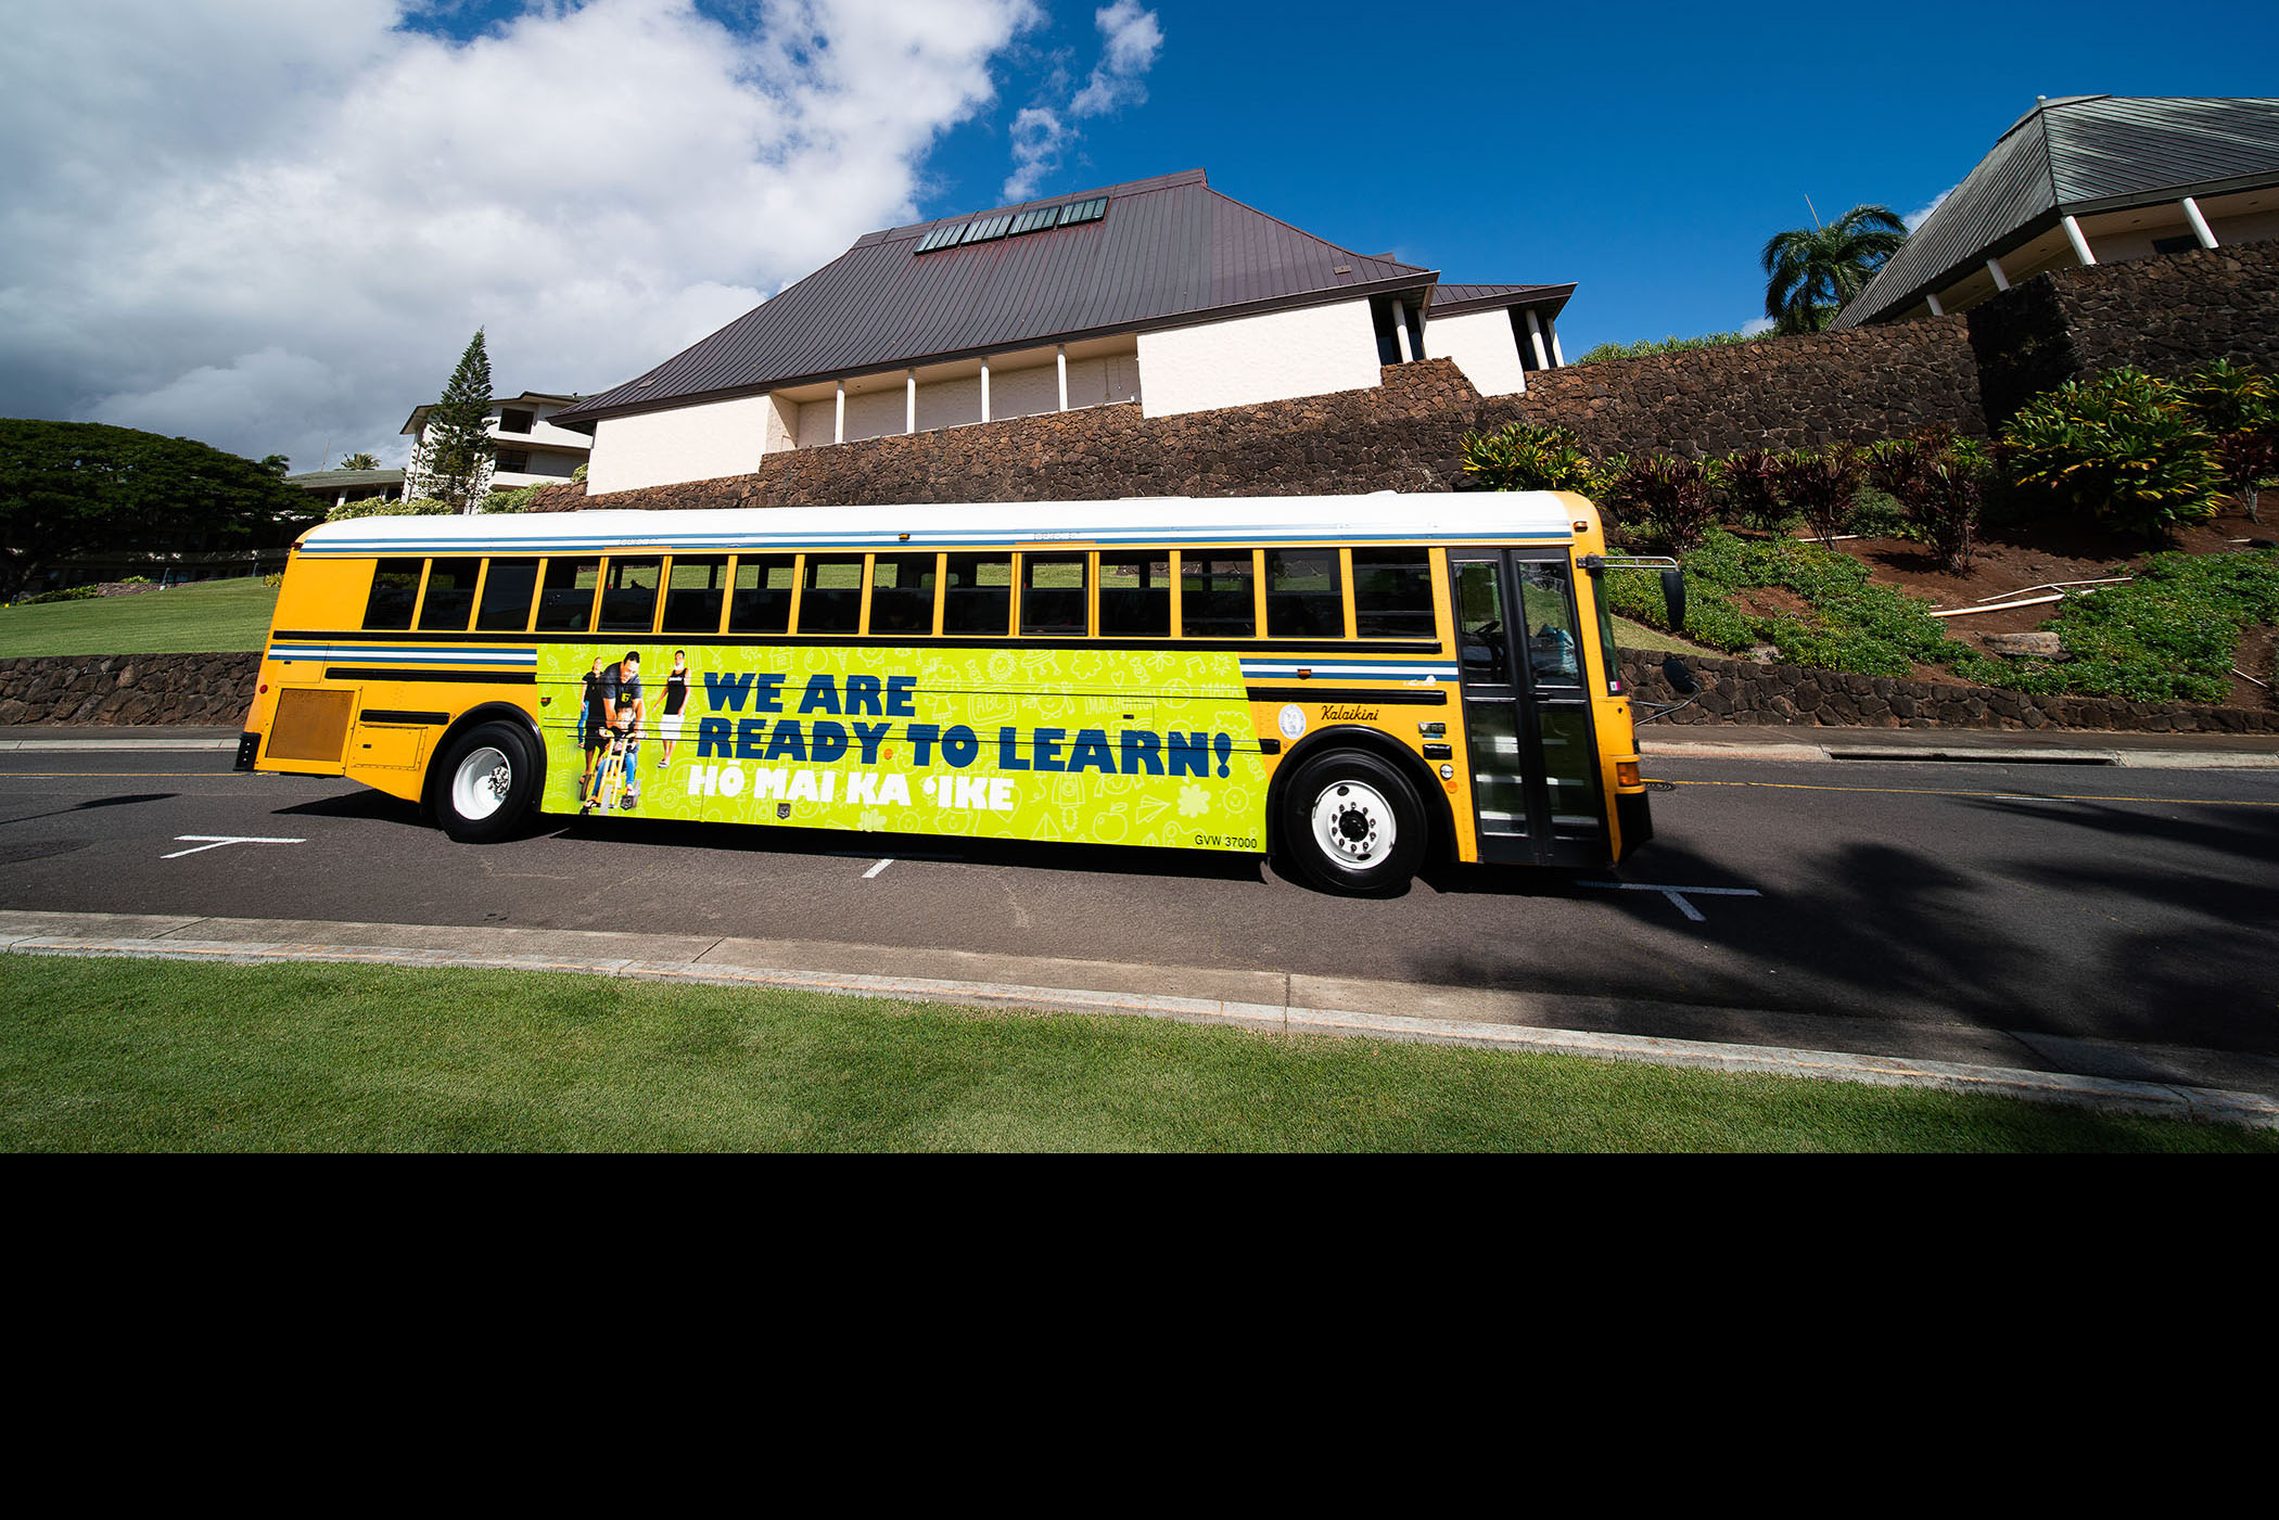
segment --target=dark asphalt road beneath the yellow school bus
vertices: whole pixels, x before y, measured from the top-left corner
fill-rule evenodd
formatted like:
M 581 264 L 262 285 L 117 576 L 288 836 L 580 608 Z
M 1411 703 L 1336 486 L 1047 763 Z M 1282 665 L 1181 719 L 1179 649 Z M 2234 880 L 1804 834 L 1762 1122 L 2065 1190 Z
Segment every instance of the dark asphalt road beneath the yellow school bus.
M 1700 1012 L 1645 1032 L 1759 1044 L 1980 1028 L 2279 1055 L 2279 770 L 1655 757 L 1675 788 L 1620 871 L 1440 868 L 1345 900 L 1249 857 L 638 818 L 454 845 L 381 793 L 228 763 L 0 754 L 0 907 L 1290 971 L 1573 998 L 1577 1028 L 1639 998 Z

